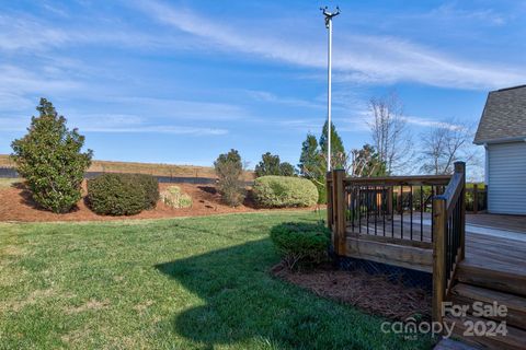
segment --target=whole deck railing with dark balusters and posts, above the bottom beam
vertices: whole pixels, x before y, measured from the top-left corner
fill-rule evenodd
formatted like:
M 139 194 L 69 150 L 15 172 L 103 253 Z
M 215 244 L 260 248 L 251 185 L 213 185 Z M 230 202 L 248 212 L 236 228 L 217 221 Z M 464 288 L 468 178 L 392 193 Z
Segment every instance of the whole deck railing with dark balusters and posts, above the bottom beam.
M 453 176 L 345 178 L 335 170 L 327 189 L 336 255 L 345 255 L 347 233 L 433 249 L 433 319 L 442 320 L 442 303 L 465 257 L 466 164 L 455 163 Z

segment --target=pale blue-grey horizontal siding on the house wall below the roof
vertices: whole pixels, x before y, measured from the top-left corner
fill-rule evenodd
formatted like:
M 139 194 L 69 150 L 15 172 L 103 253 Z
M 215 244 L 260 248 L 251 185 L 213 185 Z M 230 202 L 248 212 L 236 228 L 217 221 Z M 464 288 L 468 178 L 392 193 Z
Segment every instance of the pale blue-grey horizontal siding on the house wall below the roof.
M 526 142 L 489 144 L 488 211 L 526 214 Z

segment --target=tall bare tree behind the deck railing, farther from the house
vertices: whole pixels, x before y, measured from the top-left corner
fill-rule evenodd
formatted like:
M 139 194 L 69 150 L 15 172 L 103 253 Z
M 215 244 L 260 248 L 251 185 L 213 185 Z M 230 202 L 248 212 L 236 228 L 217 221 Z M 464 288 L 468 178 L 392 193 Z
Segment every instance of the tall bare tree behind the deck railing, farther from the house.
M 414 158 L 411 132 L 403 117 L 402 104 L 395 93 L 369 101 L 369 129 L 379 161 L 388 174 L 407 170 Z

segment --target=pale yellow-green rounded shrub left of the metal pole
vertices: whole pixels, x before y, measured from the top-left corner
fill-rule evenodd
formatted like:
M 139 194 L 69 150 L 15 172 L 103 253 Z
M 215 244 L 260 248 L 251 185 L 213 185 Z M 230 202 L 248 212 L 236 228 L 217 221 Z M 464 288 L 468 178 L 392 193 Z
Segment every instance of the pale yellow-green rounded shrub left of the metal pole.
M 258 177 L 252 191 L 255 202 L 264 208 L 310 207 L 318 202 L 315 184 L 301 177 Z

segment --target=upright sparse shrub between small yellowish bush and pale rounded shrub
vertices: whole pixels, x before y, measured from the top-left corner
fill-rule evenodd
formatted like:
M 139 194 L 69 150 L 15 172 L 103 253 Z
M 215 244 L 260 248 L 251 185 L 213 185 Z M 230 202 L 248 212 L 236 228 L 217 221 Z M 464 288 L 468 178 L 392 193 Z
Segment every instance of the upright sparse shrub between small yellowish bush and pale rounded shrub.
M 219 154 L 214 162 L 218 179 L 218 189 L 222 200 L 232 207 L 242 203 L 245 197 L 243 182 L 240 179 L 243 174 L 243 164 L 241 156 L 236 150 L 228 153 Z

